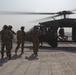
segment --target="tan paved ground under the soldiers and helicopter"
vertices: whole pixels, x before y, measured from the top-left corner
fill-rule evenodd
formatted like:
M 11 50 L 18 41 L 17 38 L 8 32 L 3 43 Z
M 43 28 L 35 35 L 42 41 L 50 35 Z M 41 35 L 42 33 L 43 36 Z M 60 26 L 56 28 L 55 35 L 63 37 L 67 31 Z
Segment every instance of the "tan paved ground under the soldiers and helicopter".
M 59 43 L 57 48 L 44 43 L 38 56 L 33 55 L 32 43 L 25 43 L 22 55 L 21 49 L 15 55 L 13 45 L 11 60 L 6 53 L 0 59 L 0 75 L 76 75 L 76 43 Z

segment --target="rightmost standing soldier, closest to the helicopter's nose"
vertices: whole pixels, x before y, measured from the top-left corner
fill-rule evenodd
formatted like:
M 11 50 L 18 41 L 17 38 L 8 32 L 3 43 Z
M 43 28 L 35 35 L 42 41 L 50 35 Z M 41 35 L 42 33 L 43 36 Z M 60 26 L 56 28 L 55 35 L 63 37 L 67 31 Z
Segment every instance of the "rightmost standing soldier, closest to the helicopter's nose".
M 37 56 L 38 55 L 38 47 L 39 47 L 39 29 L 37 26 L 34 26 L 32 31 L 32 42 L 33 42 L 33 52 Z

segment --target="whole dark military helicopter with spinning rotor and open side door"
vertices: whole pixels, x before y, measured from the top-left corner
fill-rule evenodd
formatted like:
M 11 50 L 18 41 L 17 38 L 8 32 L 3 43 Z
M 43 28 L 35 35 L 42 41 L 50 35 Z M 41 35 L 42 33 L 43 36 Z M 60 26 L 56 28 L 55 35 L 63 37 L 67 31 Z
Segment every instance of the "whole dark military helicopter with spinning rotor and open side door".
M 76 10 L 74 10 L 76 11 Z M 47 42 L 51 47 L 57 47 L 58 42 L 76 42 L 76 19 L 67 18 L 67 15 L 74 14 L 72 11 L 61 11 L 57 13 L 37 13 L 37 12 L 0 12 L 0 14 L 10 15 L 54 15 L 44 19 L 53 18 L 51 21 L 41 22 L 38 27 L 42 31 L 42 35 L 39 37 L 40 42 Z M 61 19 L 55 19 L 55 17 L 63 16 Z M 72 39 L 69 40 L 68 36 L 64 35 L 64 27 L 72 28 Z M 57 31 L 59 30 L 60 35 L 58 36 Z M 31 34 L 31 30 L 28 34 Z

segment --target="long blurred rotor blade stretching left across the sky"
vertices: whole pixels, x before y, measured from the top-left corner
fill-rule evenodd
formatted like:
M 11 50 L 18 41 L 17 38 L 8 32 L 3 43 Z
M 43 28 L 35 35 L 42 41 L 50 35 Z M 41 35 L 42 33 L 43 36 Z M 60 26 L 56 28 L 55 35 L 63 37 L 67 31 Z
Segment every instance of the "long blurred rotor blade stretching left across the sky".
M 57 13 L 0 11 L 2 15 L 53 15 Z

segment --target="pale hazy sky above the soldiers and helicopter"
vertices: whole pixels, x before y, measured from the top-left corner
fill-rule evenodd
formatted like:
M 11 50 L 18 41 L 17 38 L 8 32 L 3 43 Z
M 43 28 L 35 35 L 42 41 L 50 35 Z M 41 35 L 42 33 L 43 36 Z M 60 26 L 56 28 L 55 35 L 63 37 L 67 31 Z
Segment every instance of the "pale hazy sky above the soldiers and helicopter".
M 0 0 L 0 11 L 15 12 L 58 12 L 63 10 L 76 9 L 76 0 Z M 74 11 L 76 13 L 76 11 Z M 0 14 L 0 30 L 3 25 L 12 25 L 13 30 L 17 31 L 21 26 L 25 26 L 28 31 L 42 19 L 52 15 L 1 15 Z M 76 14 L 70 15 L 76 18 Z

